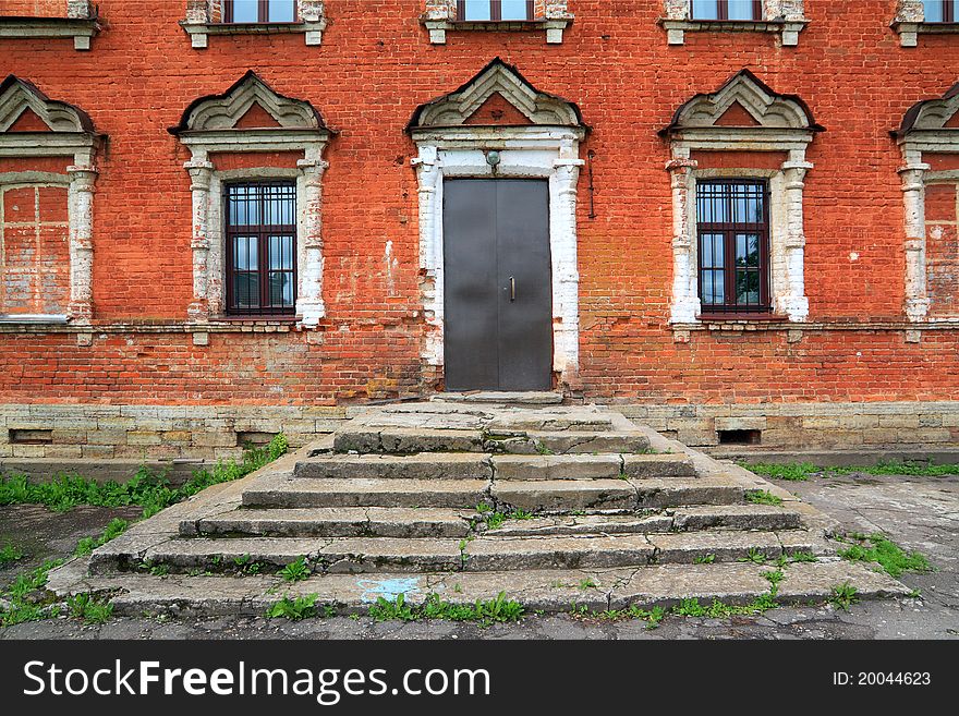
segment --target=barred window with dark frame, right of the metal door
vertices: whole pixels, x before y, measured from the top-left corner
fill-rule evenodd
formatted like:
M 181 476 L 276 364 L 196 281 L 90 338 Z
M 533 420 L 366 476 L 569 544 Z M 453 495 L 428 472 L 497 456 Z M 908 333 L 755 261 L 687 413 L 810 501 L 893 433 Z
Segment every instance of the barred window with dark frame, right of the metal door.
M 704 313 L 767 313 L 769 222 L 765 181 L 696 184 L 700 300 Z

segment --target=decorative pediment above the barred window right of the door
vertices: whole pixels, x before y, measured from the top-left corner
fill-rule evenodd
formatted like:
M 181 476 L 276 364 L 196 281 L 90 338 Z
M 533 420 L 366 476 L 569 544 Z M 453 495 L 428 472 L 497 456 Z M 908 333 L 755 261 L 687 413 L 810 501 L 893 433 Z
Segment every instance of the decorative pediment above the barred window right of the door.
M 696 95 L 676 111 L 661 134 L 690 129 L 735 126 L 776 130 L 822 131 L 805 102 L 792 95 L 779 95 L 752 72 L 742 70 L 713 94 Z

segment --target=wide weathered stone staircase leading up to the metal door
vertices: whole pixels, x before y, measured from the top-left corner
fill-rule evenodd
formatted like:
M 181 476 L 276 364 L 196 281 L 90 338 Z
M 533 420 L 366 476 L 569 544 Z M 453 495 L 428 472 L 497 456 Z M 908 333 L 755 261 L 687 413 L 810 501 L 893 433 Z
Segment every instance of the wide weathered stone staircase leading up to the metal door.
M 263 614 L 281 595 L 364 610 L 506 592 L 527 609 L 750 602 L 762 560 L 784 600 L 898 582 L 838 560 L 831 525 L 789 493 L 599 406 L 493 396 L 371 409 L 242 481 L 205 490 L 51 575 L 118 611 Z M 748 499 L 761 490 L 780 505 Z M 311 577 L 277 577 L 304 558 Z

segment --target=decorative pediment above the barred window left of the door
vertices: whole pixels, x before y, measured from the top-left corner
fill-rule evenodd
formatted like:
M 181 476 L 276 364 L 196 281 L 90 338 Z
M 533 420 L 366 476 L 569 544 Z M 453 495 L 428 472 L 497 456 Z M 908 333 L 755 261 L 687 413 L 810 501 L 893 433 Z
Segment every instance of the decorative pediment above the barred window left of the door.
M 308 101 L 274 92 L 252 70 L 222 95 L 194 101 L 171 134 L 184 132 L 271 130 L 326 131 L 323 117 Z

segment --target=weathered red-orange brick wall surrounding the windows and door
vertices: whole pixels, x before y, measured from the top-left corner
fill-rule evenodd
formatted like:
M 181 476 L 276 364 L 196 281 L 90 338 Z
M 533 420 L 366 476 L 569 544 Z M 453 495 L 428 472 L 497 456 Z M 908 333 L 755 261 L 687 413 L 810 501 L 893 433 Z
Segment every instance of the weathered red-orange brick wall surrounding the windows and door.
M 749 68 L 800 96 L 827 132 L 808 158 L 806 293 L 813 321 L 901 320 L 901 156 L 888 131 L 956 81 L 959 36 L 902 49 L 895 0 L 809 2 L 798 48 L 762 34 L 688 33 L 669 47 L 659 2 L 578 0 L 563 44 L 531 33 L 450 32 L 429 45 L 422 0 L 328 0 L 321 47 L 302 35 L 210 36 L 193 50 L 185 2 L 101 0 L 90 52 L 2 40 L 0 74 L 31 80 L 110 135 L 95 205 L 97 321 L 179 321 L 192 295 L 189 153 L 166 130 L 250 69 L 307 99 L 339 131 L 324 179 L 327 319 L 305 333 L 0 335 L 0 400 L 308 403 L 410 395 L 420 365 L 413 109 L 493 57 L 582 108 L 594 132 L 596 218 L 580 182 L 581 372 L 591 397 L 641 401 L 911 400 L 959 397 L 956 332 L 737 335 L 675 343 L 668 147 L 656 132 L 693 94 Z M 149 10 L 148 10 L 149 8 Z M 394 262 L 387 258 L 390 242 Z

